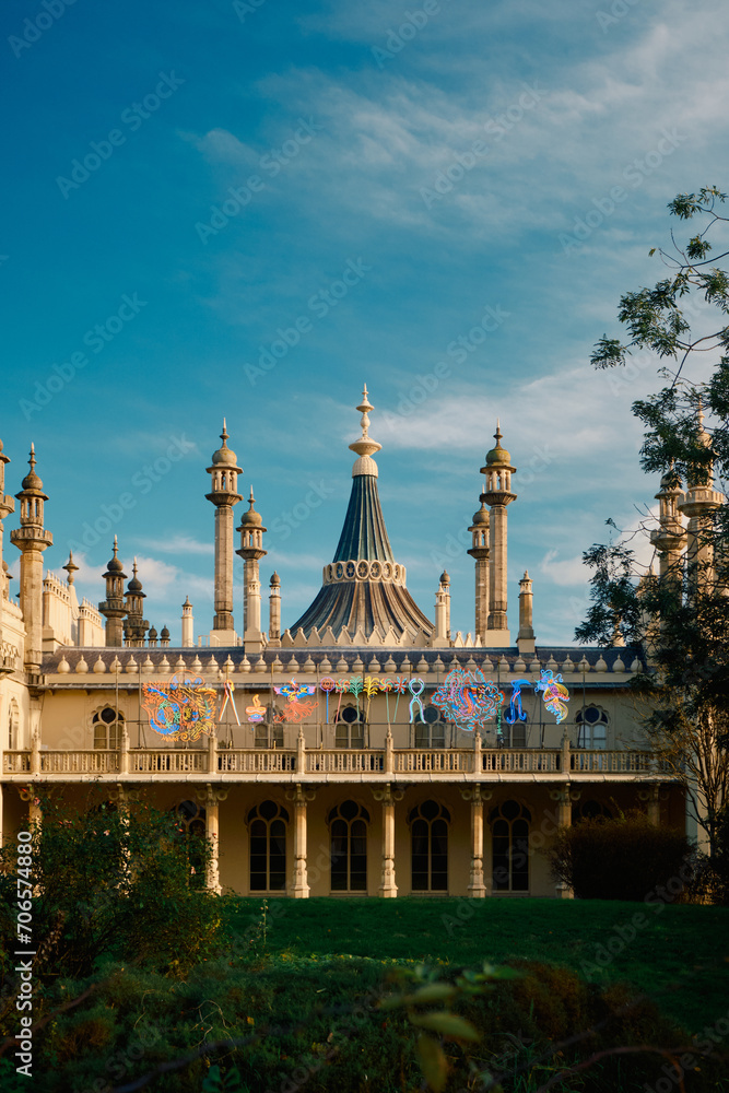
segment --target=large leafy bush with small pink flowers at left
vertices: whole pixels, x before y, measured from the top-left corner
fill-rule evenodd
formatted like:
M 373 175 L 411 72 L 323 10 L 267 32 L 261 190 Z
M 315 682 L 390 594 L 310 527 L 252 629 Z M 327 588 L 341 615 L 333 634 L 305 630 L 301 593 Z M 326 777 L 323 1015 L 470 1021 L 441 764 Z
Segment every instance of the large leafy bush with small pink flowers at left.
M 144 803 L 117 810 L 97 789 L 81 809 L 62 795 L 45 797 L 42 809 L 31 843 L 36 977 L 89 976 L 104 955 L 181 974 L 220 943 L 219 901 L 199 890 L 209 847 L 185 836 L 174 813 Z M 16 948 L 16 868 L 9 841 L 0 849 L 5 954 Z

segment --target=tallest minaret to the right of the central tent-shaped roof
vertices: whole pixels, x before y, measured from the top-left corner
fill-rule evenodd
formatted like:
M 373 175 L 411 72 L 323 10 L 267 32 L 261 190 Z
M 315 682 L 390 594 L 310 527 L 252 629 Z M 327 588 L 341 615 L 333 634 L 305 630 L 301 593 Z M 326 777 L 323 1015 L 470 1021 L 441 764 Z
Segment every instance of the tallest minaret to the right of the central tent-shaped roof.
M 486 466 L 481 468 L 481 473 L 486 477 L 483 500 L 491 507 L 489 626 L 486 634 L 483 635 L 484 644 L 491 648 L 509 645 L 510 642 L 506 619 L 506 506 L 516 501 L 516 494 L 512 493 L 512 474 L 516 473 L 516 467 L 512 467 L 510 455 L 506 448 L 502 448 L 502 431 L 498 420 L 496 421 L 494 438 L 496 447 L 486 455 Z

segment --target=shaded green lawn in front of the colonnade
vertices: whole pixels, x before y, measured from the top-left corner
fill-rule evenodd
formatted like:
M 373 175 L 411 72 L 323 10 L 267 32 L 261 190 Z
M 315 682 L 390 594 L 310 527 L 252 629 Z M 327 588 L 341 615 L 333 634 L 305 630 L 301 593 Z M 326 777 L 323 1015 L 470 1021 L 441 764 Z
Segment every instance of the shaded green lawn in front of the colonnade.
M 236 932 L 260 917 L 260 898 L 226 903 Z M 725 907 L 661 904 L 657 912 L 654 906 L 603 901 L 410 897 L 270 900 L 271 907 L 280 912 L 269 916 L 271 953 L 345 953 L 457 965 L 520 957 L 549 961 L 601 985 L 628 983 L 691 1033 L 729 1010 Z M 621 940 L 620 930 L 630 939 L 632 919 L 640 914 L 635 937 Z M 614 955 L 604 948 L 611 941 L 615 950 L 622 945 Z

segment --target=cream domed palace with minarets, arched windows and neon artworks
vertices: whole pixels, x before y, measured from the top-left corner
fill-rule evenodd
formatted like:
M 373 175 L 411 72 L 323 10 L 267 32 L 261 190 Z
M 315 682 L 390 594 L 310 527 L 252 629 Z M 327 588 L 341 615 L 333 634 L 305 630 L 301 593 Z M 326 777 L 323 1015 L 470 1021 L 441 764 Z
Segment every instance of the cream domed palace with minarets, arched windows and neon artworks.
M 510 898 L 569 895 L 540 853 L 561 825 L 637 807 L 657 824 L 683 826 L 684 792 L 647 749 L 630 698 L 638 656 L 540 646 L 528 574 L 518 590 L 507 586 L 516 468 L 498 426 L 469 528 L 474 628 L 463 637 L 450 630 L 447 573 L 433 614 L 408 591 L 378 495 L 372 409 L 365 388 L 339 543 L 322 559 L 318 595 L 291 622 L 275 573 L 264 620 L 266 528 L 252 493 L 236 550 L 242 470 L 223 427 L 207 469 L 215 613 L 204 645 L 195 644 L 187 599 L 180 647 L 149 625 L 137 566 L 129 578 L 116 540 L 97 606 L 79 601 L 72 557 L 66 579 L 44 575 L 52 536 L 31 451 L 9 534 L 21 552 L 17 603 L 7 561 L 0 567 L 7 835 L 43 822 L 42 789 L 83 807 L 93 783 L 118 806 L 143 798 L 176 810 L 188 830 L 204 828 L 207 880 L 219 892 Z M 2 519 L 15 512 L 4 492 L 9 461 L 0 445 L 0 559 Z M 691 550 L 720 495 L 662 483 L 658 497 L 654 542 L 668 565 Z M 515 634 L 507 603 L 517 591 Z

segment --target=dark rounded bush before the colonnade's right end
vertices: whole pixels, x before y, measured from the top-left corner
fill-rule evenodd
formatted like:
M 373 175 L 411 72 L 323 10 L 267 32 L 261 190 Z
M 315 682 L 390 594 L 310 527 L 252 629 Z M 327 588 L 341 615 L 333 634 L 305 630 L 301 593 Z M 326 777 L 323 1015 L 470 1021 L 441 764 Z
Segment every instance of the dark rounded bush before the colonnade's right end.
M 674 878 L 685 886 L 693 849 L 682 832 L 656 827 L 636 812 L 564 827 L 546 855 L 554 878 L 579 900 L 643 901 Z

